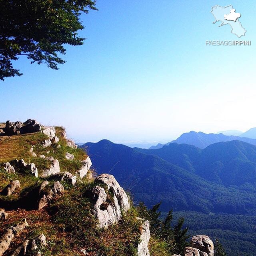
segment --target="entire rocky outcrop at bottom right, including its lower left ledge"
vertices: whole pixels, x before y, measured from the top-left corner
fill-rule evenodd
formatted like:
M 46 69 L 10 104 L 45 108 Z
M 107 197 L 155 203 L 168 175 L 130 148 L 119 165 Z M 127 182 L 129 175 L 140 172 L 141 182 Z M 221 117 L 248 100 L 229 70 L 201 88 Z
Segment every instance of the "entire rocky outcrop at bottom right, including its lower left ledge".
M 190 246 L 185 248 L 185 256 L 213 256 L 214 245 L 208 236 L 193 236 Z

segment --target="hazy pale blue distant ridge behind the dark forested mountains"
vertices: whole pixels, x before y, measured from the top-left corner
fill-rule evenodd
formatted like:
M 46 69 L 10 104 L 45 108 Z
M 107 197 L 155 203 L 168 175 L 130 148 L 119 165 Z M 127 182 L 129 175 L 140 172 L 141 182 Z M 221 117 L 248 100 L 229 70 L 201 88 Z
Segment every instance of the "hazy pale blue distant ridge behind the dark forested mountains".
M 156 146 L 150 147 L 150 149 L 159 149 L 163 146 L 168 146 L 170 143 L 178 143 L 178 144 L 189 144 L 194 145 L 198 148 L 206 148 L 211 144 L 218 143 L 218 142 L 228 142 L 232 140 L 240 140 L 243 142 L 250 143 L 252 145 L 256 145 L 256 139 L 246 138 L 244 134 L 241 136 L 226 136 L 222 133 L 220 134 L 206 134 L 204 132 L 187 132 L 182 134 L 178 139 L 173 140 L 172 142 L 168 142 L 167 144 L 158 144 Z

